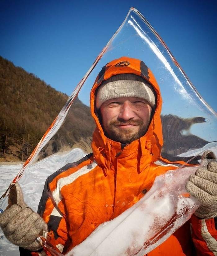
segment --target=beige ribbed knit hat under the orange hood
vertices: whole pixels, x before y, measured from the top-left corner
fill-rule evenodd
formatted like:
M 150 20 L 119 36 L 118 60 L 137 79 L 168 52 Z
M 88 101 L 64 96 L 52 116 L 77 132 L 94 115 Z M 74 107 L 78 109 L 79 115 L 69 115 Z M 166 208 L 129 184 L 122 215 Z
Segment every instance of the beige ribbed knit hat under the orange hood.
M 106 100 L 123 97 L 137 97 L 146 100 L 151 107 L 155 105 L 155 96 L 151 84 L 135 74 L 118 74 L 103 81 L 96 95 L 96 108 Z

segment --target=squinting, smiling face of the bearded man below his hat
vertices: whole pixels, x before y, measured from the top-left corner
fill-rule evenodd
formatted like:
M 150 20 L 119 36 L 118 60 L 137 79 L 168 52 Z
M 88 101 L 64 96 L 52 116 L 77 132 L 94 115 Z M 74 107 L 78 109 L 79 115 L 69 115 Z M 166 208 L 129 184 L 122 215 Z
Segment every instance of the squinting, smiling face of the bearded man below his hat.
M 114 141 L 129 144 L 146 133 L 151 111 L 148 102 L 141 98 L 107 100 L 100 107 L 104 132 Z

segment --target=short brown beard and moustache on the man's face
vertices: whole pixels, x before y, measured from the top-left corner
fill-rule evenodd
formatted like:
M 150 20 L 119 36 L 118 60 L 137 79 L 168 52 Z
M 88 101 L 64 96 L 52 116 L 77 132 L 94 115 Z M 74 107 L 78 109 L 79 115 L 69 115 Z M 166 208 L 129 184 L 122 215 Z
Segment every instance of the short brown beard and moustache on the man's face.
M 118 128 L 119 125 L 136 125 L 135 128 Z M 123 119 L 111 121 L 106 127 L 104 126 L 105 134 L 113 141 L 121 142 L 122 144 L 130 144 L 134 140 L 142 137 L 148 128 L 148 124 L 144 124 L 142 120 Z

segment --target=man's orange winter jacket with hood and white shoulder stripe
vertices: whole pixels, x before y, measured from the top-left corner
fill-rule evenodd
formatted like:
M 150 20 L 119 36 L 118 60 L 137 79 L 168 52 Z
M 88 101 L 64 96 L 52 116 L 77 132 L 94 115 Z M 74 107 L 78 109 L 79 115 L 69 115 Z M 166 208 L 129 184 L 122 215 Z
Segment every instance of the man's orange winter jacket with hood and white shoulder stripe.
M 123 73 L 145 78 L 156 92 L 156 109 L 147 133 L 125 147 L 104 135 L 95 113 L 97 88 L 102 81 Z M 162 98 L 157 82 L 144 62 L 122 57 L 104 66 L 91 90 L 90 104 L 96 123 L 93 153 L 51 175 L 38 208 L 50 230 L 48 240 L 63 254 L 85 240 L 101 223 L 112 220 L 137 202 L 151 188 L 157 175 L 177 168 L 159 164 L 163 161 L 160 156 Z M 196 252 L 198 255 L 217 255 L 216 251 L 215 254 L 211 252 L 213 246 L 216 248 L 216 237 L 214 219 L 199 220 L 193 216 L 191 223 L 185 223 L 148 255 L 196 255 Z

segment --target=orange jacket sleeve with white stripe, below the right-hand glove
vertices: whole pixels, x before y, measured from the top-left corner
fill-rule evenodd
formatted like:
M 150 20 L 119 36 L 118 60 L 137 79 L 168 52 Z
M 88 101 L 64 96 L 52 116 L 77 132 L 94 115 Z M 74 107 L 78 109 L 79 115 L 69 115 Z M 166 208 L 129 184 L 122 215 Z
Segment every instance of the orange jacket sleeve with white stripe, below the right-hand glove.
M 198 256 L 217 255 L 217 230 L 215 219 L 200 219 L 193 215 L 190 219 L 192 239 Z

